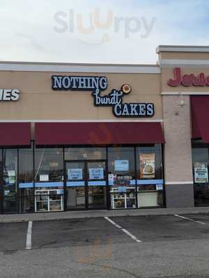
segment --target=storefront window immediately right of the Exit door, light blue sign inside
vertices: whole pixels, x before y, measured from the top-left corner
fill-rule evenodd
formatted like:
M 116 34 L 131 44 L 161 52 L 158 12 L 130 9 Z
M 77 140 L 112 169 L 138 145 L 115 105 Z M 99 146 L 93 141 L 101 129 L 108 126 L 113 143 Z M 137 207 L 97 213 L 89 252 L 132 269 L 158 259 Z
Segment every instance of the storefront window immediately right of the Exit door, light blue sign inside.
M 111 208 L 135 208 L 134 147 L 108 148 L 108 180 Z

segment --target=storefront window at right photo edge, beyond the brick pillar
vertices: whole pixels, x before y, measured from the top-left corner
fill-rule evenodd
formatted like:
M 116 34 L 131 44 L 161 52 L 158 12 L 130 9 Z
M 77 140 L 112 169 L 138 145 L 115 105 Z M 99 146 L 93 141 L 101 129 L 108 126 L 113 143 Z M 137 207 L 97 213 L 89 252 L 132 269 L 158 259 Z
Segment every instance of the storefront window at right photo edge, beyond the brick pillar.
M 208 147 L 192 149 L 194 174 L 194 202 L 196 206 L 209 205 Z

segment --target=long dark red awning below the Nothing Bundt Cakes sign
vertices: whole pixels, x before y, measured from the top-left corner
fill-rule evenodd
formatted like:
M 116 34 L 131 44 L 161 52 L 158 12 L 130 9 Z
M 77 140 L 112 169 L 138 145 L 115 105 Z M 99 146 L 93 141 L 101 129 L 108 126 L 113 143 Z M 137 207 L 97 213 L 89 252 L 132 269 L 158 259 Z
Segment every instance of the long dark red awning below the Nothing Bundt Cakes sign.
M 36 145 L 110 145 L 163 143 L 160 122 L 41 122 Z

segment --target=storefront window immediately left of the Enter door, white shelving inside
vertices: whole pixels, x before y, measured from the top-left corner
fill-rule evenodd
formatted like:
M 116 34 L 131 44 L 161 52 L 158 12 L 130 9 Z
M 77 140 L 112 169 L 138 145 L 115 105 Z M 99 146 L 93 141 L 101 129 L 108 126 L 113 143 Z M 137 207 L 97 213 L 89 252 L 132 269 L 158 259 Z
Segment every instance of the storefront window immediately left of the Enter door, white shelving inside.
M 63 149 L 35 151 L 35 211 L 63 211 Z

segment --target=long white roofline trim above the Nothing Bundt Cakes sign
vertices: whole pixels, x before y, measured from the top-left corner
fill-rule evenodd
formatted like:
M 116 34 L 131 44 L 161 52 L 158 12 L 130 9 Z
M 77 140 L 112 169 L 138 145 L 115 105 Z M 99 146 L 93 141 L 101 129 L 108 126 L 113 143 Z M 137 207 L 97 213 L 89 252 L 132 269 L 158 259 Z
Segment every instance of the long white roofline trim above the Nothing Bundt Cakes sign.
M 0 71 L 160 74 L 157 65 L 96 65 L 68 63 L 0 62 Z

